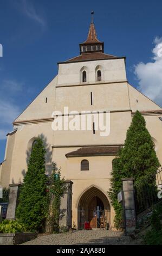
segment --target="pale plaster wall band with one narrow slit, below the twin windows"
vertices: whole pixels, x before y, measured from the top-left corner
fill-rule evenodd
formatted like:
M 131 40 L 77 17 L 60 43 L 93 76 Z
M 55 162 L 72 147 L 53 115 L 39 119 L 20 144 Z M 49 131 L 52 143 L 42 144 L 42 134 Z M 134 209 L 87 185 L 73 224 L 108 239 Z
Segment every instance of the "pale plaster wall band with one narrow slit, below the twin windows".
M 88 86 L 56 88 L 55 110 L 115 111 L 130 109 L 127 83 L 93 84 Z M 90 101 L 92 92 L 93 105 Z

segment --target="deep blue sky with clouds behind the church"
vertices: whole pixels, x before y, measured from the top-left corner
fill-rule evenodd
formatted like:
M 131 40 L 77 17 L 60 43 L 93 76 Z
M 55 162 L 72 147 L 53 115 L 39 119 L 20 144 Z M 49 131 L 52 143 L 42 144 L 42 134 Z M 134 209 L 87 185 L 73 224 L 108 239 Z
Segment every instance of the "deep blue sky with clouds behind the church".
M 57 74 L 57 62 L 79 55 L 90 11 L 105 53 L 126 56 L 127 79 L 162 105 L 160 0 L 0 0 L 0 162 L 12 121 Z

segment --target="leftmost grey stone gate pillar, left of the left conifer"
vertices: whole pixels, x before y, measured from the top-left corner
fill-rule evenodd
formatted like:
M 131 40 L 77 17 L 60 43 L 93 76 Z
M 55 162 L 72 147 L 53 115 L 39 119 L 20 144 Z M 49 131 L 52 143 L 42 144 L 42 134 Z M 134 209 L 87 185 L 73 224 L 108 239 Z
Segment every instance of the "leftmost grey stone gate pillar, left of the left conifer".
M 10 195 L 9 195 L 9 204 L 7 209 L 7 219 L 15 220 L 16 206 L 18 203 L 18 196 L 20 193 L 21 184 L 10 184 Z

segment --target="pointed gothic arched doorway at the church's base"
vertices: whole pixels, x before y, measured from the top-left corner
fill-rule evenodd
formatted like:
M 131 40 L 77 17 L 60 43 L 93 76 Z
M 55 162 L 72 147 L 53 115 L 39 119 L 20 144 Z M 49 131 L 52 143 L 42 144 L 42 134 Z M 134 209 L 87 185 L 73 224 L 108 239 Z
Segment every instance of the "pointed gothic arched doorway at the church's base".
M 110 226 L 110 210 L 106 195 L 96 187 L 89 188 L 79 200 L 78 228 L 85 228 L 85 223 L 88 223 L 88 227 L 91 229 L 108 228 Z

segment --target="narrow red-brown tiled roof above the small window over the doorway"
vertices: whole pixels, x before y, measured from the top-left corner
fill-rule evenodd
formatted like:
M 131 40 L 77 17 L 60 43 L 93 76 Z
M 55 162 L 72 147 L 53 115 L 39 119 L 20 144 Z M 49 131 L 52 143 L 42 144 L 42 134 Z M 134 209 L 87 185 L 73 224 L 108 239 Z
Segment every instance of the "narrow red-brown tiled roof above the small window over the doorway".
M 84 147 L 66 154 L 66 157 L 73 156 L 103 156 L 116 155 L 120 146 Z

